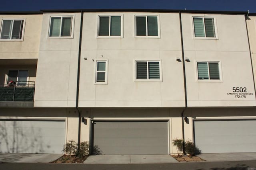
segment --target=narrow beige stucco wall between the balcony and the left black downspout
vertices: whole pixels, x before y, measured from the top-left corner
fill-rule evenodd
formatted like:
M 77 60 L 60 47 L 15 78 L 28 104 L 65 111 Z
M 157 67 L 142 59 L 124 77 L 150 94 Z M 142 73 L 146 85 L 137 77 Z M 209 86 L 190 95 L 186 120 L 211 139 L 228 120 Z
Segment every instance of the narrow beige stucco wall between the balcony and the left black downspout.
M 71 38 L 48 38 L 50 16 L 73 16 Z M 35 107 L 75 107 L 80 13 L 43 14 Z

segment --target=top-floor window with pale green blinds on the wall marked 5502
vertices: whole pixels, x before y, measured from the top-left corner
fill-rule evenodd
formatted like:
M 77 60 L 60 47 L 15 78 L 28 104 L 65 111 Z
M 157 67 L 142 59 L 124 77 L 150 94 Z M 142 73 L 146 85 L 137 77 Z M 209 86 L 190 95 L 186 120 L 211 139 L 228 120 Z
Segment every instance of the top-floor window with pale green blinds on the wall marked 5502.
M 215 38 L 214 18 L 193 17 L 194 37 Z

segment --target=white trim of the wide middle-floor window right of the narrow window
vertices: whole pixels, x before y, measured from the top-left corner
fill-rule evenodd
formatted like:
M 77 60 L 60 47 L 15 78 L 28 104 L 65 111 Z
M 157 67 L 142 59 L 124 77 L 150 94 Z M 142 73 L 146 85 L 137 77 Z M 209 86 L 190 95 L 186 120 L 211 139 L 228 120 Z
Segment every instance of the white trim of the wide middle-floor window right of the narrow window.
M 159 62 L 159 79 L 136 79 L 137 62 Z M 148 71 L 148 64 L 147 64 Z M 134 82 L 162 82 L 162 60 L 134 60 Z M 148 76 L 148 75 L 147 75 Z

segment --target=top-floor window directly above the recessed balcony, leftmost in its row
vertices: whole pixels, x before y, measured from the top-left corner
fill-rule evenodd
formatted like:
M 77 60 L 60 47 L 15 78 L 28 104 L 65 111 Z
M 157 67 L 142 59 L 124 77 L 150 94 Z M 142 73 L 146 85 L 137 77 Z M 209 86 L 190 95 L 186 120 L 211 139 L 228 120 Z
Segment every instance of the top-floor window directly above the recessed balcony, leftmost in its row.
M 2 40 L 22 39 L 24 20 L 2 20 L 1 35 Z

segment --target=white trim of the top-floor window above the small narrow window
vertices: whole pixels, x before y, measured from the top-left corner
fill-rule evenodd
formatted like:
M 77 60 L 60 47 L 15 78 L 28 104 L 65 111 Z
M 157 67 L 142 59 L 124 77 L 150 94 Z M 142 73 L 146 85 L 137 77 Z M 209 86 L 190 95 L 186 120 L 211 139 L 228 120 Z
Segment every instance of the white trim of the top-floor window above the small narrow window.
M 100 26 L 100 17 L 101 16 L 108 16 L 108 17 L 112 17 L 112 16 L 120 16 L 121 17 L 121 35 L 120 36 L 111 36 L 110 35 L 110 22 L 111 22 L 111 19 L 109 20 L 109 32 L 108 32 L 108 36 L 100 36 L 99 35 L 99 31 L 100 31 L 100 29 L 99 29 L 99 26 Z M 98 25 L 97 25 L 97 35 L 96 35 L 96 38 L 124 38 L 124 26 L 123 26 L 123 17 L 124 17 L 124 15 L 98 15 L 97 16 L 98 18 L 97 18 L 97 20 L 98 20 Z

